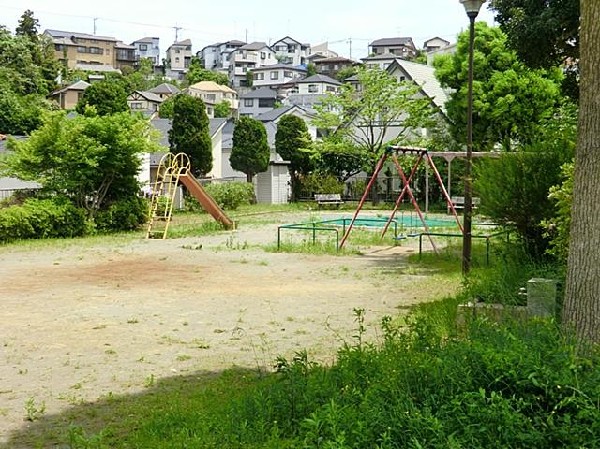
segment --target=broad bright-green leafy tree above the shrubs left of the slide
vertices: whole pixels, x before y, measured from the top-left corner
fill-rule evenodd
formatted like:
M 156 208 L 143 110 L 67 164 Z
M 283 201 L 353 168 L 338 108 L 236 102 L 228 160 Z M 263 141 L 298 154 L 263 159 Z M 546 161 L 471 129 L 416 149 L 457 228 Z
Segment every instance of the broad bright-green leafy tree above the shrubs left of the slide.
M 139 192 L 139 155 L 158 150 L 147 121 L 129 113 L 108 116 L 48 115 L 26 141 L 9 141 L 5 172 L 66 195 L 94 217 L 98 210 Z

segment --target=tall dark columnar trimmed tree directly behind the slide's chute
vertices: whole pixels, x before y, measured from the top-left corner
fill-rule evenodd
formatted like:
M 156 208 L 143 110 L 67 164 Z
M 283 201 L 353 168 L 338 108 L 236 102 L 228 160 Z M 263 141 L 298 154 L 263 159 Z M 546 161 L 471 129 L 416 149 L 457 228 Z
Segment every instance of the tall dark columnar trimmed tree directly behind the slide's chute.
M 171 153 L 187 154 L 196 175 L 206 175 L 212 169 L 209 123 L 200 98 L 185 94 L 174 97 L 173 125 L 169 130 Z

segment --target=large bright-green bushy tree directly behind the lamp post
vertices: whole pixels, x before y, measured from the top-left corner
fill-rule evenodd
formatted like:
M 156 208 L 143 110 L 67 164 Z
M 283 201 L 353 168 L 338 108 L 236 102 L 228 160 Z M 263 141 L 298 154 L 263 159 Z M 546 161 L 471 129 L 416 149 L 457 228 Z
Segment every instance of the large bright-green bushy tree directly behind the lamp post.
M 476 23 L 473 82 L 473 142 L 478 151 L 529 143 L 544 121 L 553 117 L 562 95 L 561 71 L 532 70 L 507 48 L 506 35 L 485 22 Z M 464 142 L 467 118 L 469 33 L 458 37 L 456 53 L 435 59 L 435 75 L 454 91 L 446 103 L 454 139 Z

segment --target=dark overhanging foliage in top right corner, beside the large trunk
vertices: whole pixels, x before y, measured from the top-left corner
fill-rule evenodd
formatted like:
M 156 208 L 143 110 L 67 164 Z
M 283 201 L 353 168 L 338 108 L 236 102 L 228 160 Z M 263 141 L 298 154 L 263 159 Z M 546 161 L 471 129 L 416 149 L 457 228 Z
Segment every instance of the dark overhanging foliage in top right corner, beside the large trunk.
M 566 63 L 564 91 L 576 97 L 579 0 L 492 0 L 490 8 L 525 64 L 552 68 Z

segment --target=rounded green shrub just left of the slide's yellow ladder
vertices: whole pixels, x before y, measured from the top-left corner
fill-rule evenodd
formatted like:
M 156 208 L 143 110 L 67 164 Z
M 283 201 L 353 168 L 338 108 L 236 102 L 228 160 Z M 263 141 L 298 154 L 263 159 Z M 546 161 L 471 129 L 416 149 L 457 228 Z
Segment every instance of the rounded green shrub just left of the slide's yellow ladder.
M 148 201 L 138 196 L 115 201 L 94 217 L 100 232 L 133 231 L 148 219 Z

